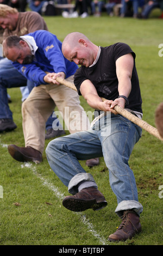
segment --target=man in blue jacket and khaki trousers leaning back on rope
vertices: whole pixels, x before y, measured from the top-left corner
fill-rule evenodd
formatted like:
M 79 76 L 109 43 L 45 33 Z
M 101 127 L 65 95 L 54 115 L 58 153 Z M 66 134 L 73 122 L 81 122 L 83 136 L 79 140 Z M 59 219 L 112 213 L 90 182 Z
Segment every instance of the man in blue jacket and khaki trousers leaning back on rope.
M 47 31 L 24 36 L 8 36 L 3 42 L 4 55 L 35 87 L 22 104 L 25 147 L 9 145 L 17 161 L 41 162 L 45 145 L 45 124 L 55 106 L 62 113 L 70 133 L 89 129 L 90 123 L 80 106 L 78 93 L 59 84 L 57 77 L 73 82 L 78 65 L 61 52 L 61 41 Z M 85 125 L 85 126 L 84 126 Z

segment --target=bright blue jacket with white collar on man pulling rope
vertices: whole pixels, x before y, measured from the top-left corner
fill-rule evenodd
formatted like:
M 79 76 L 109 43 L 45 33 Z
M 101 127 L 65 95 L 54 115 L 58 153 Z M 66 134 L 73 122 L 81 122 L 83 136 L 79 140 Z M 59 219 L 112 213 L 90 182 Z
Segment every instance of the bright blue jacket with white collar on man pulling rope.
M 64 72 L 66 77 L 74 75 L 78 65 L 67 60 L 61 51 L 62 42 L 57 36 L 48 31 L 36 31 L 22 36 L 28 41 L 28 36 L 33 37 L 35 45 L 35 60 L 30 64 L 13 62 L 15 68 L 28 80 L 33 81 L 35 86 L 46 84 L 43 77 L 45 72 Z

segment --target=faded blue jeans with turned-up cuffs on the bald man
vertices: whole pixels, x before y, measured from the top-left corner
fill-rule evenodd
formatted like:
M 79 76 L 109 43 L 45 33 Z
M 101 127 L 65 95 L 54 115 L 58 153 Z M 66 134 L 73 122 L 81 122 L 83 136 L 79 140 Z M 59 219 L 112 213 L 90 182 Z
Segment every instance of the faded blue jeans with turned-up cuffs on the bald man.
M 121 215 L 123 210 L 134 209 L 140 215 L 143 208 L 138 201 L 136 182 L 128 160 L 141 132 L 141 128 L 128 119 L 109 112 L 97 121 L 92 130 L 51 141 L 46 148 L 47 160 L 68 187 L 68 192 L 76 194 L 80 182 L 95 182 L 78 160 L 103 156 L 109 169 L 110 186 L 117 197 L 116 213 Z

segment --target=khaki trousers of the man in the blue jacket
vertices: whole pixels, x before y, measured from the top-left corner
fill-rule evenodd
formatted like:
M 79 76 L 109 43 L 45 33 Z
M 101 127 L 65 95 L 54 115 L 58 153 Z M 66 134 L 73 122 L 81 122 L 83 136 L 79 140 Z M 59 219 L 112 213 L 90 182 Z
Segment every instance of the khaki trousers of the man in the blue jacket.
M 73 76 L 66 80 L 73 83 Z M 90 121 L 80 106 L 76 91 L 63 84 L 41 84 L 33 88 L 22 104 L 25 147 L 30 146 L 43 153 L 46 121 L 55 106 L 62 113 L 70 133 L 90 129 Z

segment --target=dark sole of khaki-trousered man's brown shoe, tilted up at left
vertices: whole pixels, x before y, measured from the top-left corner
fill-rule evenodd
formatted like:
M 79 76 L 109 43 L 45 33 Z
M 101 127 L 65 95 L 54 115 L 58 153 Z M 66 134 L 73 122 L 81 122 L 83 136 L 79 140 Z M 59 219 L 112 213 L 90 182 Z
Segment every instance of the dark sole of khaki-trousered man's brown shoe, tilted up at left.
M 35 163 L 40 163 L 40 160 L 34 159 L 33 157 L 28 157 L 20 153 L 17 149 L 12 147 L 11 145 L 8 146 L 8 151 L 9 154 L 17 161 L 19 162 L 35 162 Z

